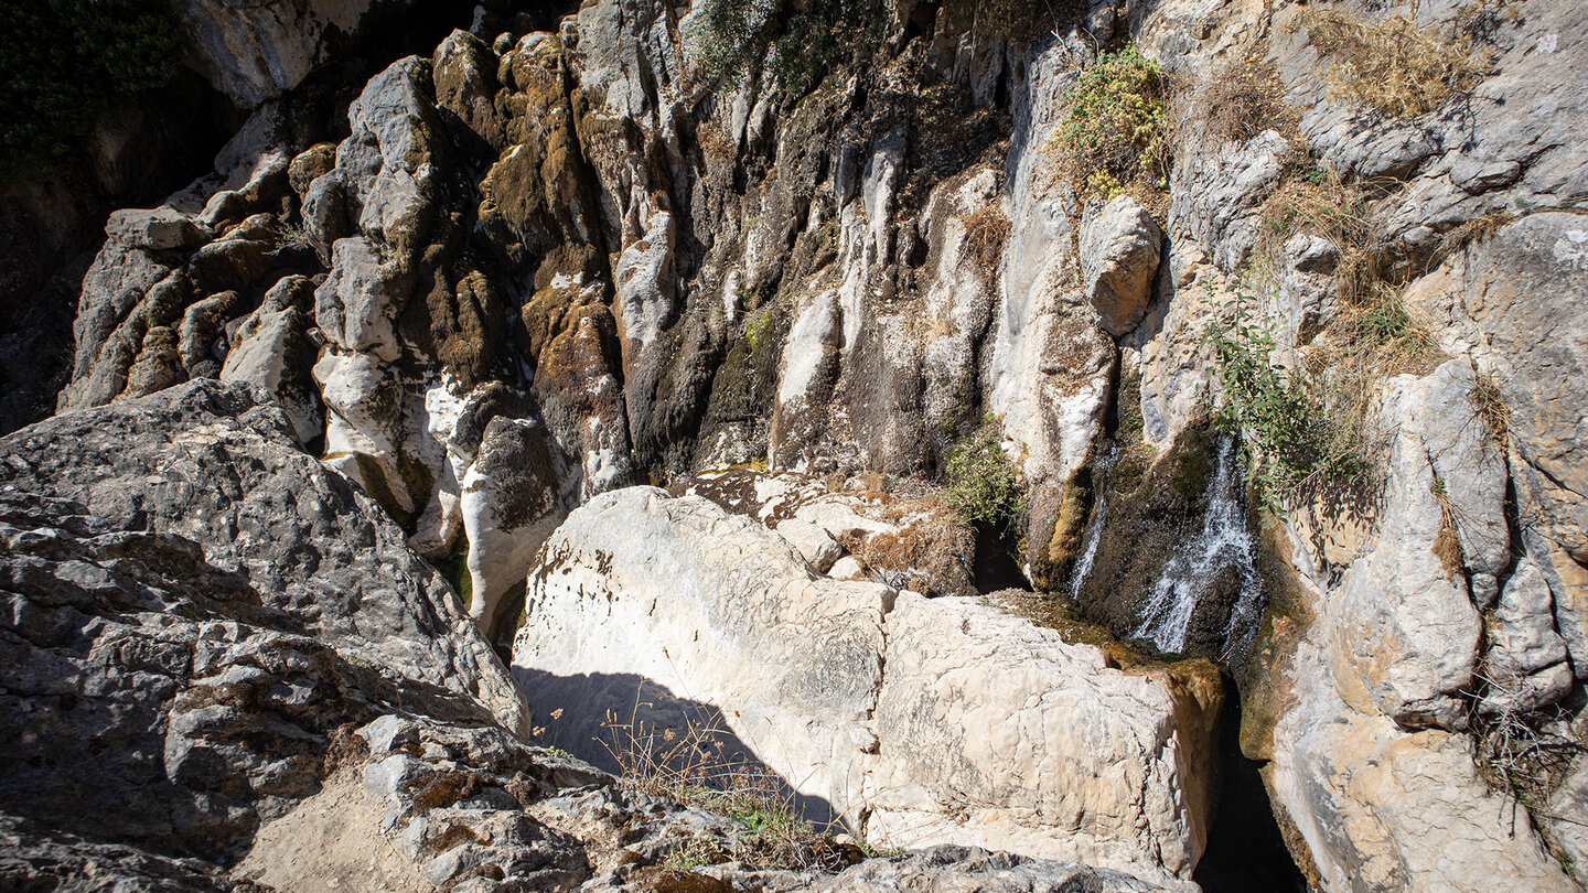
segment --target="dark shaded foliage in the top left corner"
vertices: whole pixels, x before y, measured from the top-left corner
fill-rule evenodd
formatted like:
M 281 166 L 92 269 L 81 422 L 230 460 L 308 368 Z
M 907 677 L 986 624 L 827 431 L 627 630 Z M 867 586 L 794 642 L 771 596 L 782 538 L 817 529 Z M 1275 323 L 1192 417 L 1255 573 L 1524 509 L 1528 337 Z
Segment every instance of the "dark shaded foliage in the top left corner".
M 30 0 L 0 17 L 0 164 L 67 151 L 94 116 L 176 75 L 179 37 L 154 0 Z

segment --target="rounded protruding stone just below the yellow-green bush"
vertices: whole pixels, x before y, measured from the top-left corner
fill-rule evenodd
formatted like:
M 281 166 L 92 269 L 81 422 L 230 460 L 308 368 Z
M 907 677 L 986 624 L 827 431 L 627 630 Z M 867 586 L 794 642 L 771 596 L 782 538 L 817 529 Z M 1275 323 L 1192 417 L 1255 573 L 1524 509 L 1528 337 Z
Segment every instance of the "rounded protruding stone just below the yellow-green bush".
M 1120 195 L 1097 216 L 1081 222 L 1081 275 L 1086 300 L 1102 316 L 1102 327 L 1120 337 L 1147 313 L 1164 234 L 1140 202 Z

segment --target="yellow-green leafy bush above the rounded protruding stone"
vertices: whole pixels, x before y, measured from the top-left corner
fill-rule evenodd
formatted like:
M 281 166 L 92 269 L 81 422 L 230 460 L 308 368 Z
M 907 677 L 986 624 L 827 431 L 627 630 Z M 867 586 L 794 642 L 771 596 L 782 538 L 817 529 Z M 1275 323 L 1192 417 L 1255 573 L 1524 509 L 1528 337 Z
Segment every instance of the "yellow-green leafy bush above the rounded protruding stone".
M 1135 46 L 1081 72 L 1050 141 L 1081 195 L 1167 183 L 1167 94 L 1162 67 Z

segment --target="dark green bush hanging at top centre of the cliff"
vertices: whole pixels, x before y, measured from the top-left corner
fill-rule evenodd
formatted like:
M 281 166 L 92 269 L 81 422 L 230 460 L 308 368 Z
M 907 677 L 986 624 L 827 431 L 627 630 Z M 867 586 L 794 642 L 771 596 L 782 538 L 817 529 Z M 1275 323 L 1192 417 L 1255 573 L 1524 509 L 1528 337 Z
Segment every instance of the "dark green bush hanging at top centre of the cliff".
M 877 51 L 883 13 L 875 0 L 807 0 L 804 8 L 781 0 L 703 0 L 684 37 L 705 81 L 737 87 L 764 73 L 781 97 L 797 100 L 832 68 L 861 64 Z

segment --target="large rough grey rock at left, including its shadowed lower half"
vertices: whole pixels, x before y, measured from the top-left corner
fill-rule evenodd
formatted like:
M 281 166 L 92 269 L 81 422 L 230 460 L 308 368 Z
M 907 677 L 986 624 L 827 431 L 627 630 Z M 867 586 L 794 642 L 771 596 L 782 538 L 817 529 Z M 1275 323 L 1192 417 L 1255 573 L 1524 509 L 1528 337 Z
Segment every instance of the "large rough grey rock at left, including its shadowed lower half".
M 440 575 L 264 397 L 194 381 L 0 453 L 25 748 L 0 787 L 35 828 L 219 858 L 318 788 L 343 723 L 526 718 Z

